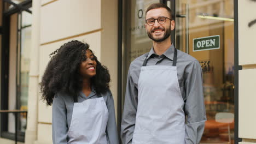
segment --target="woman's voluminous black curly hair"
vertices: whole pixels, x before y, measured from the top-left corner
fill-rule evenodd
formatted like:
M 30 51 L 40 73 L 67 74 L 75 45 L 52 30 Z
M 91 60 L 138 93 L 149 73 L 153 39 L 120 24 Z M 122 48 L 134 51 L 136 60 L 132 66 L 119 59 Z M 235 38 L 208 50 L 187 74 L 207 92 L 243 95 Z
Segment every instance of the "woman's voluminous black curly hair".
M 77 99 L 83 82 L 79 67 L 86 59 L 86 50 L 90 50 L 88 44 L 72 40 L 50 54 L 51 59 L 40 82 L 42 99 L 46 100 L 47 105 L 53 104 L 54 95 L 58 92 L 66 92 Z M 109 90 L 109 71 L 98 62 L 96 56 L 95 61 L 96 75 L 91 78 L 91 85 L 96 93 L 105 93 Z

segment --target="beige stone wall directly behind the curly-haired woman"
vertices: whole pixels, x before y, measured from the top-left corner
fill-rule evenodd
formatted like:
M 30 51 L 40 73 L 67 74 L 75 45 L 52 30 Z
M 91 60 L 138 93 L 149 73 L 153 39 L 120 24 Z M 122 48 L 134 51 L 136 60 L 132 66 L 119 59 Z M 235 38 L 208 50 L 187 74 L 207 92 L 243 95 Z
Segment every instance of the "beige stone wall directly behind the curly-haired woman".
M 109 69 L 111 91 L 117 107 L 118 1 L 41 1 L 39 82 L 49 54 L 70 41 L 90 44 L 90 49 Z M 40 97 L 40 94 L 38 94 Z M 38 102 L 38 136 L 35 143 L 51 141 L 51 106 Z

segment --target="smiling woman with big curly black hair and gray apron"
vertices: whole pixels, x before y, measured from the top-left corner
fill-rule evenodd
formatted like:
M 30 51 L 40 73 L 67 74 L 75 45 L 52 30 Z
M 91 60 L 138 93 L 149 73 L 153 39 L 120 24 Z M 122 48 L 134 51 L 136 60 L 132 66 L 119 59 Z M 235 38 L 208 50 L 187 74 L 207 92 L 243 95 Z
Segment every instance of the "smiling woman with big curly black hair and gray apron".
M 108 69 L 77 40 L 50 56 L 40 90 L 53 104 L 53 143 L 118 143 Z

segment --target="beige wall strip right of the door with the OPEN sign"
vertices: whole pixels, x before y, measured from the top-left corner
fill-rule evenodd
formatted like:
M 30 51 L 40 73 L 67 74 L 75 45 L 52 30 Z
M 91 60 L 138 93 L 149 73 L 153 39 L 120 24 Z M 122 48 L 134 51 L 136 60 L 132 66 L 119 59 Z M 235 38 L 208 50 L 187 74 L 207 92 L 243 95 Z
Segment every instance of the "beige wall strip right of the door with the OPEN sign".
M 256 19 L 256 2 L 238 1 L 238 57 L 239 93 L 238 93 L 238 137 L 240 144 L 256 143 L 256 25 L 248 27 L 248 23 Z

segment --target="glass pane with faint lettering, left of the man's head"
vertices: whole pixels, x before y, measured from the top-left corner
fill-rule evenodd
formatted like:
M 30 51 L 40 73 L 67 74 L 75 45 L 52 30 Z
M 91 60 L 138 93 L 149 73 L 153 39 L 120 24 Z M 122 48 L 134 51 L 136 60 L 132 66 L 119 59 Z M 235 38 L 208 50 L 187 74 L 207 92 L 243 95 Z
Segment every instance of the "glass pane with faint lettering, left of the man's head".
M 124 84 L 126 88 L 126 78 L 130 63 L 138 56 L 150 50 L 152 41 L 148 38 L 145 24 L 145 13 L 147 7 L 159 0 L 131 0 L 125 2 L 124 12 Z M 124 98 L 123 98 L 124 100 Z

